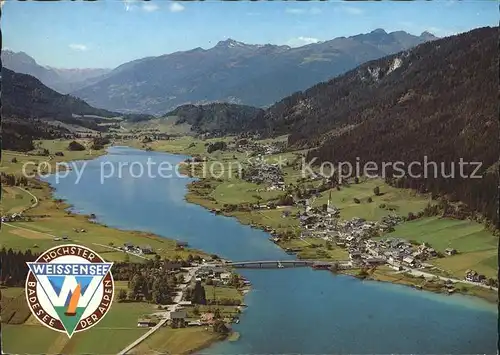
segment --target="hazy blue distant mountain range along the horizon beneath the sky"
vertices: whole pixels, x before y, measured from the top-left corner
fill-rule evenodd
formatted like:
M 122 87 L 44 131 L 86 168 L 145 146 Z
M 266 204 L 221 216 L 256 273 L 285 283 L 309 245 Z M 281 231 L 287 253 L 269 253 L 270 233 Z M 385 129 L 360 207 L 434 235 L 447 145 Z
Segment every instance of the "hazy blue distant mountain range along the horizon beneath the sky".
M 221 101 L 266 107 L 368 60 L 436 38 L 428 32 L 414 36 L 377 29 L 297 48 L 227 39 L 210 49 L 142 58 L 109 72 L 80 70 L 78 75 L 42 67 L 24 53 L 4 51 L 2 59 L 5 67 L 92 106 L 161 115 L 183 104 Z

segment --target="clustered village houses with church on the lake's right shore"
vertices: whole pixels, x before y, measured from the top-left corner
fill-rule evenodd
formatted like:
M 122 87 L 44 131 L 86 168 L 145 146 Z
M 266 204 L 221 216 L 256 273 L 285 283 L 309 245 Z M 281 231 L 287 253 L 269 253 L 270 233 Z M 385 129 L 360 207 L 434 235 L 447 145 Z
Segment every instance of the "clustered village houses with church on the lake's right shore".
M 267 191 L 285 191 L 283 172 L 278 164 L 269 164 L 261 155 L 244 170 L 243 179 L 249 182 L 267 186 Z M 383 217 L 380 221 L 366 221 L 354 217 L 351 220 L 341 220 L 339 209 L 331 203 L 331 192 L 326 206 L 312 207 L 318 194 L 308 199 L 294 198 L 293 205 L 303 211 L 292 214 L 290 206 L 276 206 L 273 203 L 254 206 L 254 208 L 283 208 L 283 218 L 297 218 L 300 225 L 300 239 L 320 238 L 337 247 L 345 249 L 351 267 L 371 268 L 378 265 L 388 265 L 396 271 L 434 270 L 430 260 L 452 256 L 460 251 L 446 248 L 443 252 L 436 251 L 429 243 L 418 243 L 398 237 L 383 238 L 385 233 L 394 231 L 394 227 L 406 221 L 406 217 L 395 213 Z M 281 236 L 271 227 L 264 227 L 271 233 L 273 242 L 280 244 Z M 287 252 L 296 253 L 300 248 L 287 248 Z M 467 282 L 481 285 L 496 285 L 495 280 L 488 279 L 474 270 L 467 270 L 463 276 Z M 451 291 L 452 292 L 452 291 Z

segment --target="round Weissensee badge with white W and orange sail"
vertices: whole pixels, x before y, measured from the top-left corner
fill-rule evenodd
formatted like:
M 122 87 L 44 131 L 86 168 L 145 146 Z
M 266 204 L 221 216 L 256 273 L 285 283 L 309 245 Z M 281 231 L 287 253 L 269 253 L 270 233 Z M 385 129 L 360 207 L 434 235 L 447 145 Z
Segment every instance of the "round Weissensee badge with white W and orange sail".
M 71 338 L 96 325 L 111 307 L 113 263 L 93 250 L 60 245 L 27 264 L 26 299 L 43 325 Z

